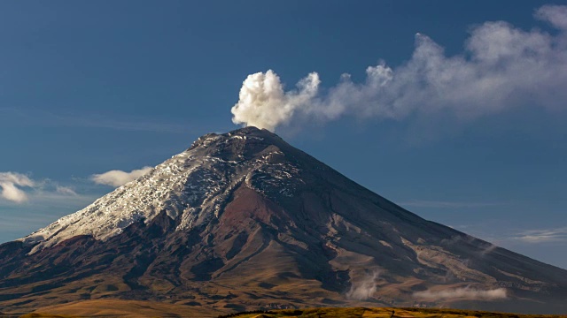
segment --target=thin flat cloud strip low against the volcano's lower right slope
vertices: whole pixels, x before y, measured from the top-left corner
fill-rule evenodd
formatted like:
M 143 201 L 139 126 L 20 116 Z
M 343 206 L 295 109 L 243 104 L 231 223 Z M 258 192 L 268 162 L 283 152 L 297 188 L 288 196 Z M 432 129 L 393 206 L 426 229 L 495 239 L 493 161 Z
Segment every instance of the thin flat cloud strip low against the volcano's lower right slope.
M 416 299 L 469 299 L 469 300 L 495 300 L 506 299 L 506 289 L 497 288 L 493 290 L 478 290 L 474 288 L 464 287 L 455 289 L 444 289 L 439 291 L 427 290 L 423 292 L 414 292 Z

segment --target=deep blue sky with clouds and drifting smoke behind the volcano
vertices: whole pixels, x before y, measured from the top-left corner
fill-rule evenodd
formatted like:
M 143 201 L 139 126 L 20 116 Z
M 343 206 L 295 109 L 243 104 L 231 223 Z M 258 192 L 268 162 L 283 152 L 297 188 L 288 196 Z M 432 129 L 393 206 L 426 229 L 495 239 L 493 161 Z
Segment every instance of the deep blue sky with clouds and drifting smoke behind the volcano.
M 237 128 L 243 81 L 273 70 L 282 95 L 244 118 L 278 117 L 372 191 L 566 269 L 567 11 L 552 5 L 567 2 L 0 3 L 0 241 L 112 191 L 107 171 Z M 316 89 L 296 87 L 310 72 Z

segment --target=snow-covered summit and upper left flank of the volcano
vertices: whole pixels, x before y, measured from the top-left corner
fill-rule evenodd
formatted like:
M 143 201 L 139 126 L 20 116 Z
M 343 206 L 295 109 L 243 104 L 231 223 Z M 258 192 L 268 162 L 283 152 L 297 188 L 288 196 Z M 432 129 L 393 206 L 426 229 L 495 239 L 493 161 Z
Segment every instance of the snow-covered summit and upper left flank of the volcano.
M 261 191 L 270 180 L 291 195 L 297 168 L 278 162 L 284 154 L 277 145 L 283 140 L 255 127 L 206 134 L 144 176 L 21 240 L 39 243 L 32 253 L 77 235 L 105 240 L 136 221 L 151 222 L 162 211 L 180 218 L 177 230 L 190 229 L 218 217 L 223 199 L 243 182 Z

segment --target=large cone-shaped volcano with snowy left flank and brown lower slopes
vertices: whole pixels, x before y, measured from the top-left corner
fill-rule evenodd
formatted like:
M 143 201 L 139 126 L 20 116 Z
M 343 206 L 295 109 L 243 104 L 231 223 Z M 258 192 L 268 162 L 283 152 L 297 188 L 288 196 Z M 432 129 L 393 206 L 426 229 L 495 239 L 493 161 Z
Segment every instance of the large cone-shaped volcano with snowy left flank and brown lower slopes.
M 246 127 L 206 134 L 89 207 L 0 246 L 0 308 L 82 299 L 204 314 L 336 306 L 564 314 L 567 270 L 426 221 Z

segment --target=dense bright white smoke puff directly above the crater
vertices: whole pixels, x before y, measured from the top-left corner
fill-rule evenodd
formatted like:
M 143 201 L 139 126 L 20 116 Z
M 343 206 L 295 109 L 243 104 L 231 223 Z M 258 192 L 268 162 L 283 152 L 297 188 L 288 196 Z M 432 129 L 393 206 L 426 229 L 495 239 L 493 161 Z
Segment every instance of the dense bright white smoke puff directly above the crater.
M 272 70 L 248 75 L 240 88 L 240 99 L 231 110 L 232 122 L 274 131 L 277 125 L 287 123 L 295 110 L 315 98 L 320 82 L 319 75 L 313 72 L 299 81 L 297 90 L 284 92 L 280 78 Z

